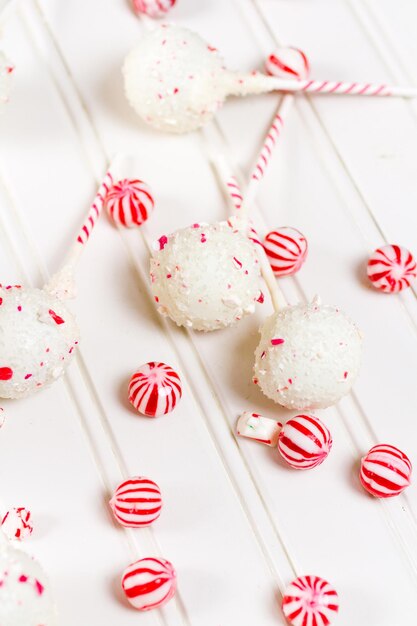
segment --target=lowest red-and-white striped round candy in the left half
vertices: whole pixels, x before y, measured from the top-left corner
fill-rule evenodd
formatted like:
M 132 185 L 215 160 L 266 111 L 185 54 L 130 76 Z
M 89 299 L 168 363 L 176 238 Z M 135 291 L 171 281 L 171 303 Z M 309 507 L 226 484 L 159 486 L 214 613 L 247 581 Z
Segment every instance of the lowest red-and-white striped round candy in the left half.
M 176 587 L 177 575 L 165 559 L 140 559 L 123 572 L 123 591 L 138 611 L 163 606 L 175 595 Z

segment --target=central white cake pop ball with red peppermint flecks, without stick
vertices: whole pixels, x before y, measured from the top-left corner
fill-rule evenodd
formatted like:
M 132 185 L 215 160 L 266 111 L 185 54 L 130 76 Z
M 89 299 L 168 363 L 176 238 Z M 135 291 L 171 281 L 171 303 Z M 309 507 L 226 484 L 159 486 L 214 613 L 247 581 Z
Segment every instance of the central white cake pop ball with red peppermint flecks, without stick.
M 263 300 L 255 246 L 233 222 L 194 224 L 157 246 L 152 292 L 160 313 L 179 326 L 224 328 Z

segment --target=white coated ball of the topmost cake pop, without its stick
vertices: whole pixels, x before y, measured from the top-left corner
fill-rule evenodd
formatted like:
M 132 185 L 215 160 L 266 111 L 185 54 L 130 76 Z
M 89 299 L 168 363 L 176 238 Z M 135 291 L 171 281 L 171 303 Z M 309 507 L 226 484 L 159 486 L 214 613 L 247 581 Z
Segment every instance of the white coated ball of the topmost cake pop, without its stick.
M 186 28 L 164 24 L 126 57 L 125 92 L 135 111 L 159 130 L 202 126 L 222 105 L 229 72 L 217 50 Z

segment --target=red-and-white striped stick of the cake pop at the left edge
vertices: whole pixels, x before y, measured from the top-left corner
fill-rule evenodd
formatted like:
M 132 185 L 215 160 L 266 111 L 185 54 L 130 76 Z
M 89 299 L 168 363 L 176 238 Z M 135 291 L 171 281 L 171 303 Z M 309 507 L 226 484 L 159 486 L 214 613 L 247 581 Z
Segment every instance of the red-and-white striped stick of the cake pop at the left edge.
M 75 295 L 75 279 L 74 272 L 80 256 L 90 238 L 92 230 L 97 223 L 98 218 L 103 210 L 106 195 L 115 181 L 115 172 L 120 157 L 117 157 L 109 169 L 107 170 L 87 215 L 78 232 L 75 243 L 73 244 L 67 259 L 62 268 L 54 274 L 45 285 L 45 290 L 55 294 L 60 298 L 73 298 Z

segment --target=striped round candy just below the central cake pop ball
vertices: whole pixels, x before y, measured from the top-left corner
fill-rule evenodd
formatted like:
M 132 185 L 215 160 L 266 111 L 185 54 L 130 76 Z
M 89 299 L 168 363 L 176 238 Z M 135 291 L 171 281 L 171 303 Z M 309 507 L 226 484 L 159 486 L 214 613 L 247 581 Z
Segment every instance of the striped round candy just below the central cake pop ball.
M 145 363 L 130 379 L 129 401 L 139 413 L 149 417 L 173 411 L 181 395 L 180 377 L 165 363 Z

